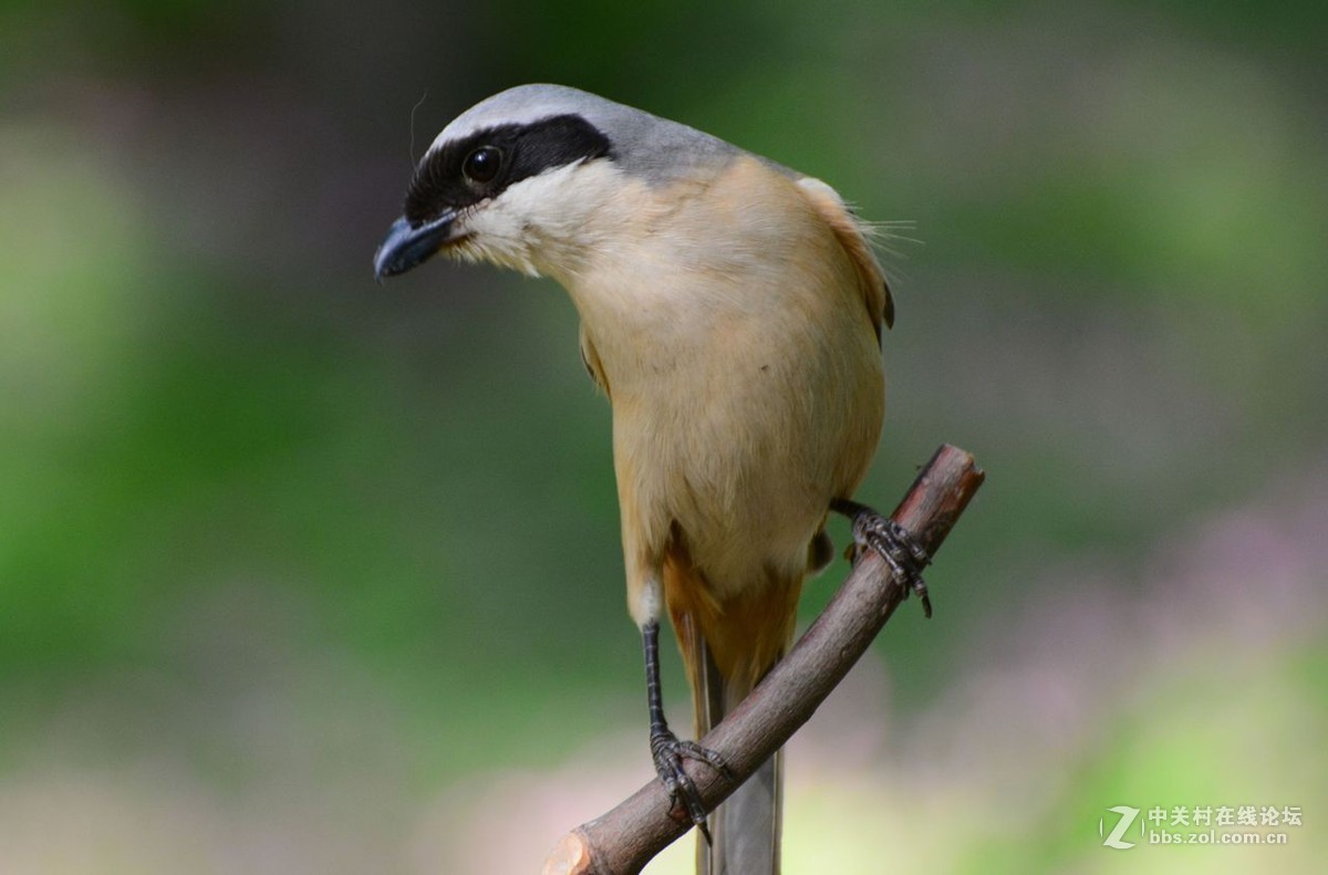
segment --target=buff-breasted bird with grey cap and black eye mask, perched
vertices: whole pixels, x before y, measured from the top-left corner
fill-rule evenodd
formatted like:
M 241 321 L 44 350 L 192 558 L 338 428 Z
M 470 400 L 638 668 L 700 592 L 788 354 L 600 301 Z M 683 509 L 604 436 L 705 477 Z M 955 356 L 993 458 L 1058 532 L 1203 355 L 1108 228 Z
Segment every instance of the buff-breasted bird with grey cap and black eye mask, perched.
M 884 417 L 894 303 L 872 227 L 827 183 L 596 94 L 510 88 L 417 162 L 373 270 L 434 255 L 551 278 L 612 409 L 627 605 L 645 659 L 649 748 L 703 875 L 780 871 L 782 752 L 706 815 L 683 767 L 724 758 L 669 728 L 672 623 L 700 738 L 791 644 L 831 511 L 931 612 L 910 534 L 853 499 Z

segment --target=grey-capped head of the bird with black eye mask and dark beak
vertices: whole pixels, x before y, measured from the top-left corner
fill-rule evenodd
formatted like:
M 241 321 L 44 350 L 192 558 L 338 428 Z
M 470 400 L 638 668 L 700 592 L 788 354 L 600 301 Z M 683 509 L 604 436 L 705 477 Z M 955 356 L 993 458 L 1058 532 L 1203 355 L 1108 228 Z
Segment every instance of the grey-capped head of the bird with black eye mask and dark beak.
M 438 134 L 373 270 L 382 279 L 442 252 L 567 274 L 631 212 L 632 193 L 736 154 L 709 134 L 572 88 L 513 88 Z

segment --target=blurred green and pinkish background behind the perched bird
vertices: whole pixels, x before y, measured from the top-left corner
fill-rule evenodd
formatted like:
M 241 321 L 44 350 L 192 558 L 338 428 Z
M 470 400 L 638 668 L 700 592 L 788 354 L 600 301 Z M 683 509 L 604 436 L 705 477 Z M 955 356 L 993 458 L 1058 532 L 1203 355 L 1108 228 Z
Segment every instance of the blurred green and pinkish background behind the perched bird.
M 0 871 L 535 871 L 649 777 L 571 305 L 371 276 L 525 81 L 915 223 L 861 497 L 989 477 L 794 740 L 790 872 L 1321 871 L 1325 11 L 4 3 Z M 1303 825 L 1105 848 L 1120 805 Z

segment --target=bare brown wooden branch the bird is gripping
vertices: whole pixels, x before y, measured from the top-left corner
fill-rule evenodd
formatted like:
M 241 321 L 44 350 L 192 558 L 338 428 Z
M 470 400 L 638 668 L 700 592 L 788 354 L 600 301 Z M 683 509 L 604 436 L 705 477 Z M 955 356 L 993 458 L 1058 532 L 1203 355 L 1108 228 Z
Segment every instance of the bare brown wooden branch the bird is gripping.
M 964 450 L 943 445 L 914 481 L 892 518 L 927 555 L 935 555 L 984 473 Z M 713 811 L 762 762 L 811 718 L 907 597 L 908 588 L 867 551 L 830 604 L 789 655 L 701 744 L 729 763 L 732 778 L 684 761 L 706 811 Z M 668 793 L 651 779 L 603 817 L 562 838 L 544 860 L 544 875 L 629 875 L 692 827 L 671 811 Z

